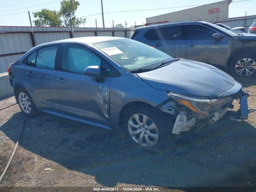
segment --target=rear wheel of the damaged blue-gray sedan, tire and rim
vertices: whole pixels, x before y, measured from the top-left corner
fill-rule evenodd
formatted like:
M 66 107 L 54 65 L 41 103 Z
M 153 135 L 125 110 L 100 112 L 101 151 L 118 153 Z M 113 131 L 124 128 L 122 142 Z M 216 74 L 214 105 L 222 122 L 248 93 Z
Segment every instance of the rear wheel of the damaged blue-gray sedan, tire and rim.
M 21 88 L 18 91 L 16 91 L 15 98 L 20 106 L 20 110 L 26 116 L 32 117 L 38 114 L 34 101 L 32 100 L 32 97 L 26 89 Z

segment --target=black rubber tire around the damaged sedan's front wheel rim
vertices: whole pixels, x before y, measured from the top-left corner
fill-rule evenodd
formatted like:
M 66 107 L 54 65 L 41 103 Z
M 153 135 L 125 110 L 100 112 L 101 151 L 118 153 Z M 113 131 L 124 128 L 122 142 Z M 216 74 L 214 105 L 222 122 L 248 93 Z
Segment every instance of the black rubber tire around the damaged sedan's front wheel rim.
M 134 114 L 145 114 L 156 124 L 158 129 L 158 140 L 153 146 L 142 146 L 132 139 L 128 129 L 128 121 Z M 174 116 L 170 114 L 157 110 L 153 107 L 133 107 L 124 116 L 122 130 L 131 144 L 158 152 L 173 146 L 174 142 L 177 140 L 178 136 L 172 133 L 173 124 Z

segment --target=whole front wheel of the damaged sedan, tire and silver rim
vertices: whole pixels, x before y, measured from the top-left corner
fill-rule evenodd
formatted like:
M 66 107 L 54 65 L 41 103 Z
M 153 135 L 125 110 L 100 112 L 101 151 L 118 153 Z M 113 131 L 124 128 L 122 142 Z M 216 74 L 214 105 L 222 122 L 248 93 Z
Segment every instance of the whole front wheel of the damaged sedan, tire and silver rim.
M 136 146 L 158 151 L 172 146 L 173 117 L 151 108 L 133 108 L 126 113 L 123 122 L 126 136 Z

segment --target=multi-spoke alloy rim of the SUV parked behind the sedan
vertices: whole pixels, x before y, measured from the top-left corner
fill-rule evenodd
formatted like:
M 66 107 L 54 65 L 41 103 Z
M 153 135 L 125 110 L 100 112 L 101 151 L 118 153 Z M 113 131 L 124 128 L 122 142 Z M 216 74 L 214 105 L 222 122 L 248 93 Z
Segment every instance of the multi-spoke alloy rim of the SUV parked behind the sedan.
M 235 70 L 239 76 L 250 76 L 256 70 L 256 62 L 251 58 L 242 58 L 236 62 Z

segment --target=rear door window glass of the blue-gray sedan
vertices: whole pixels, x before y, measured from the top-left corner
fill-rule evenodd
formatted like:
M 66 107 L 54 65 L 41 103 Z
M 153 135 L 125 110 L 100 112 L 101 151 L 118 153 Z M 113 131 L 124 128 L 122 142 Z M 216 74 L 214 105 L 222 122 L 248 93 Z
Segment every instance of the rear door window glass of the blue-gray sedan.
M 39 49 L 36 57 L 36 67 L 54 69 L 57 48 L 58 46 L 51 46 Z

